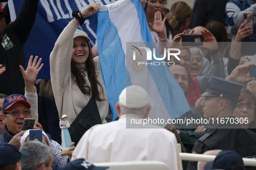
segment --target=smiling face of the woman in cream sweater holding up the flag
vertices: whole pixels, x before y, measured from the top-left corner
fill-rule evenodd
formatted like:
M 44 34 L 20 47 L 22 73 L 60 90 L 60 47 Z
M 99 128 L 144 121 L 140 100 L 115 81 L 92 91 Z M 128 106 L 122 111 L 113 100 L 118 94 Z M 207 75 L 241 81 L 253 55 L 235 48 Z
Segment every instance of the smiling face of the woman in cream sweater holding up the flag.
M 83 64 L 89 56 L 89 47 L 87 41 L 83 37 L 74 38 L 72 59 L 77 64 Z

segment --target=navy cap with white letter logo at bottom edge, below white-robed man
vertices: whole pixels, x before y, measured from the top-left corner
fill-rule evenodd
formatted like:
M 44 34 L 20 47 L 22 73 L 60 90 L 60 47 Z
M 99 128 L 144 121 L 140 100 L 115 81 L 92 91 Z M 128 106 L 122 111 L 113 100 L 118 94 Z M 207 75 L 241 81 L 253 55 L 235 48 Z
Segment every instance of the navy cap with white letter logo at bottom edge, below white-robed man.
M 63 167 L 62 170 L 106 170 L 109 167 L 95 167 L 90 161 L 77 159 Z

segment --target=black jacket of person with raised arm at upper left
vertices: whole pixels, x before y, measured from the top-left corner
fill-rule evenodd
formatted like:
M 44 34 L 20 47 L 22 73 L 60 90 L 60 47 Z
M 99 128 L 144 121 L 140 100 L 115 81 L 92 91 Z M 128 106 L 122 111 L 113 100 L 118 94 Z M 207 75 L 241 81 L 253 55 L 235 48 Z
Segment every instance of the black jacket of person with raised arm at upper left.
M 25 83 L 19 65 L 25 67 L 23 45 L 36 20 L 38 1 L 25 0 L 16 20 L 8 24 L 3 32 L 0 64 L 6 67 L 6 71 L 0 75 L 0 93 L 25 93 Z M 39 40 L 35 40 L 35 43 L 36 41 Z

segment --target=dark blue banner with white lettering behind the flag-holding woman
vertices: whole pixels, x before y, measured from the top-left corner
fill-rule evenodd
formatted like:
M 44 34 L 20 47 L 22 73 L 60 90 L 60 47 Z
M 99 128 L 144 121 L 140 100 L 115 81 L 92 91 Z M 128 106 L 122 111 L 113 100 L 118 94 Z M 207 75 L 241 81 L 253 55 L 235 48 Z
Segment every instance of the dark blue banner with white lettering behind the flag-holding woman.
M 26 64 L 29 61 L 30 55 L 38 55 L 42 58 L 44 67 L 39 72 L 37 78 L 50 78 L 50 53 L 62 30 L 68 25 L 68 22 L 73 19 L 73 11 L 81 11 L 89 3 L 106 5 L 114 1 L 115 0 L 39 0 L 36 21 L 23 47 Z M 23 2 L 24 0 L 8 1 L 11 21 L 16 19 L 16 15 L 18 15 Z M 79 26 L 78 29 L 88 34 L 91 39 L 90 43 L 92 47 L 96 40 L 97 14 L 87 17 L 83 26 Z

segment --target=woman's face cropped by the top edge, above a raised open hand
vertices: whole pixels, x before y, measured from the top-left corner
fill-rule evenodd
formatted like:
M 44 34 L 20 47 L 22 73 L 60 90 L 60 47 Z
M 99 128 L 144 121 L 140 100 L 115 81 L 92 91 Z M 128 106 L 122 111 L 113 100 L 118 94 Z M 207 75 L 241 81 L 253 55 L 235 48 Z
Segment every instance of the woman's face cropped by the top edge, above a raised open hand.
M 147 3 L 148 3 L 148 5 L 147 5 L 147 10 L 146 10 L 146 15 L 155 16 L 155 13 L 157 11 L 162 13 L 162 10 L 164 8 L 163 0 L 148 0 Z

